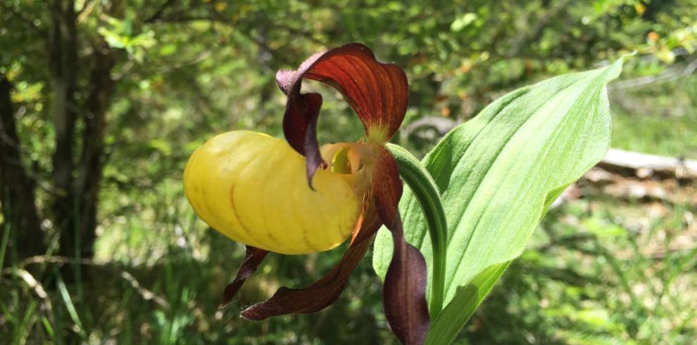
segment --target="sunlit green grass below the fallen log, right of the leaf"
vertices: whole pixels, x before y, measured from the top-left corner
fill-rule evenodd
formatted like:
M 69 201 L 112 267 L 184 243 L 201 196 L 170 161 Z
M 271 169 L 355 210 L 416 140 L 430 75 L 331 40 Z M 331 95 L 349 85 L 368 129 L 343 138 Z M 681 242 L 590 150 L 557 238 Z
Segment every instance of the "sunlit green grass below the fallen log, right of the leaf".
M 583 199 L 548 214 L 463 339 L 472 344 L 697 341 L 697 228 L 684 220 L 697 213 L 697 204 L 617 200 L 591 187 L 584 192 Z

